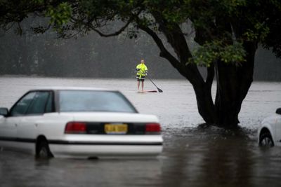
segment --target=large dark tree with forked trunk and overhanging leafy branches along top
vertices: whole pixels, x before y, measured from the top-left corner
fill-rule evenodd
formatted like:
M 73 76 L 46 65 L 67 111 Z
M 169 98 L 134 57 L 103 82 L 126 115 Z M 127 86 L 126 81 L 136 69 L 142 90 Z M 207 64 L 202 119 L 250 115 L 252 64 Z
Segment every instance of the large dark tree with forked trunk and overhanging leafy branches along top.
M 10 29 L 27 17 L 48 18 L 34 32 L 55 29 L 70 38 L 94 31 L 100 36 L 126 32 L 152 37 L 160 56 L 192 83 L 197 106 L 209 124 L 235 127 L 252 82 L 258 45 L 281 57 L 281 2 L 278 0 L 81 0 L 0 1 L 0 26 Z M 122 23 L 117 27 L 115 23 Z M 119 24 L 118 24 L 119 25 Z M 188 29 L 191 25 L 192 29 Z M 188 43 L 194 35 L 196 47 Z M 207 68 L 203 78 L 197 65 Z M 211 85 L 216 76 L 216 98 Z

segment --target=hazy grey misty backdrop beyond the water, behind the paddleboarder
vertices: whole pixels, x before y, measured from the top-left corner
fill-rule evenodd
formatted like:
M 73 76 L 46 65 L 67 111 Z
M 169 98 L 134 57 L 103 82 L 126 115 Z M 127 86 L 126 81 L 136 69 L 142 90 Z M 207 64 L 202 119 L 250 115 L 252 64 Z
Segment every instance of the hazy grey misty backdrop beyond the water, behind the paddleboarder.
M 92 32 L 65 40 L 51 30 L 32 34 L 28 32 L 32 25 L 34 20 L 22 23 L 22 36 L 15 29 L 0 32 L 0 75 L 134 78 L 136 64 L 143 58 L 151 78 L 183 78 L 159 57 L 157 46 L 144 32 L 136 39 L 128 39 L 126 33 L 102 38 Z M 204 68 L 201 71 L 204 74 Z M 281 60 L 269 50 L 256 52 L 254 81 L 281 81 Z

